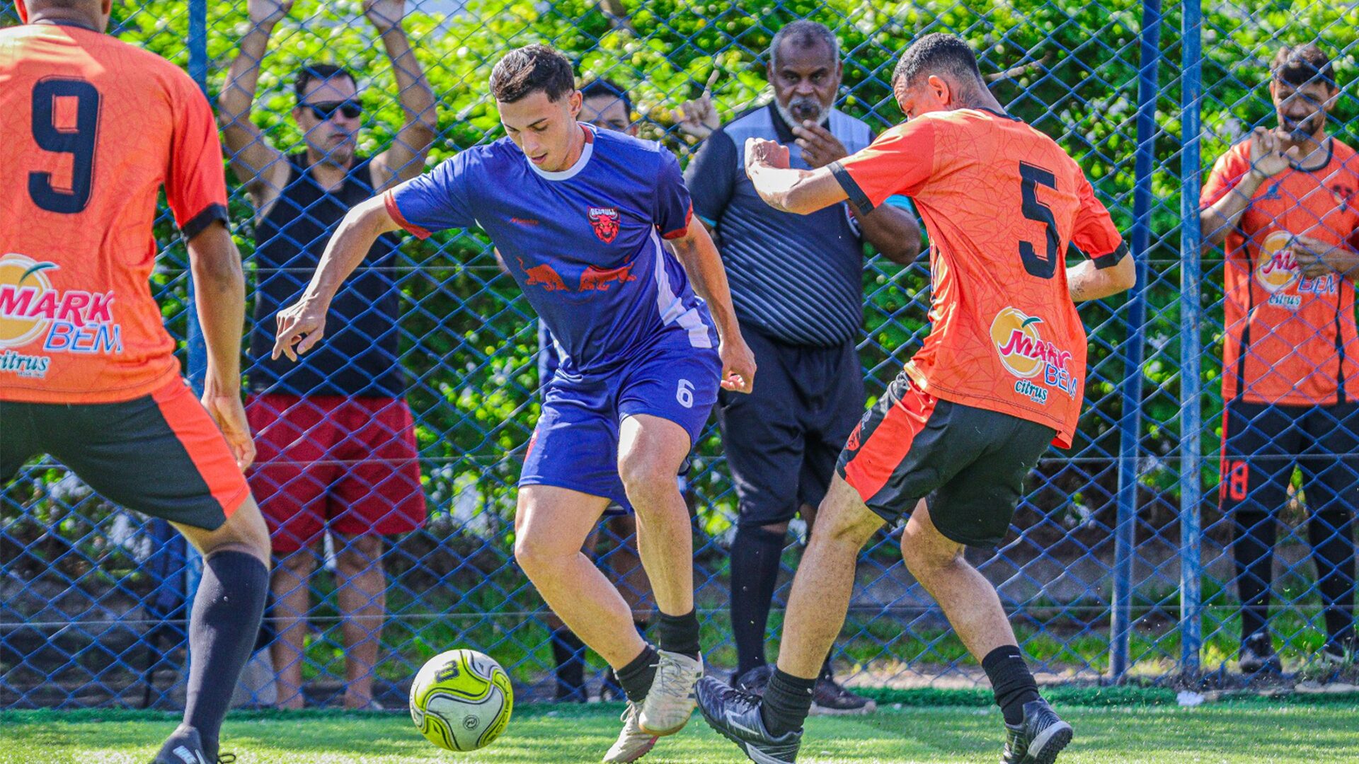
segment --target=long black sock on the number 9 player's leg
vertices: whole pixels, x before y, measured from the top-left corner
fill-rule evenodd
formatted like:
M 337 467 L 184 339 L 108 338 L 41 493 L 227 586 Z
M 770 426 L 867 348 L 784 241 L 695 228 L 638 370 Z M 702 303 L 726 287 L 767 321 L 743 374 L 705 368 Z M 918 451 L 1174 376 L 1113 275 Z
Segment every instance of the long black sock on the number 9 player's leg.
M 222 719 L 260 635 L 269 570 L 245 552 L 216 552 L 202 561 L 202 580 L 189 619 L 189 687 L 183 723 L 198 730 L 204 753 L 217 757 Z

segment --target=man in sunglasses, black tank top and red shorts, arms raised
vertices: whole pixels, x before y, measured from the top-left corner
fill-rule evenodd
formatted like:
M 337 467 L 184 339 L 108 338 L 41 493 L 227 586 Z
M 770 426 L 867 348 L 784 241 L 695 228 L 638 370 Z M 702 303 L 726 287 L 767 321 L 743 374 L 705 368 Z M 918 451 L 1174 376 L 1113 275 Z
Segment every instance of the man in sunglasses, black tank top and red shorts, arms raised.
M 345 644 L 347 708 L 372 701 L 386 609 L 382 536 L 420 527 L 424 492 L 398 353 L 398 239 L 379 239 L 332 303 L 336 332 L 300 363 L 272 360 L 275 315 L 302 294 L 351 207 L 424 169 L 435 135 L 434 94 L 401 29 L 401 0 L 367 0 L 395 72 L 406 124 L 391 147 L 356 154 L 363 106 L 355 76 L 329 64 L 296 73 L 292 110 L 304 147 L 284 155 L 250 122 L 269 35 L 291 0 L 251 0 L 251 27 L 222 90 L 231 167 L 255 208 L 255 324 L 247 412 L 260 458 L 250 481 L 269 521 L 273 552 L 273 663 L 279 706 L 299 708 L 308 578 L 323 532 L 336 538 L 336 600 Z

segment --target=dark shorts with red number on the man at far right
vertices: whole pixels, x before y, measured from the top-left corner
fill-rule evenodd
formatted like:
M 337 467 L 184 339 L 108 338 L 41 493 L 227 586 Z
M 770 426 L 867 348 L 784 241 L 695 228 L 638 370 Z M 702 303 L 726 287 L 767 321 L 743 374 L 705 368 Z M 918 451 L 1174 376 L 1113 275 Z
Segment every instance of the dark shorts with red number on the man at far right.
M 1359 502 L 1359 404 L 1280 406 L 1229 401 L 1222 412 L 1223 513 L 1273 515 L 1288 503 L 1294 468 L 1307 506 Z

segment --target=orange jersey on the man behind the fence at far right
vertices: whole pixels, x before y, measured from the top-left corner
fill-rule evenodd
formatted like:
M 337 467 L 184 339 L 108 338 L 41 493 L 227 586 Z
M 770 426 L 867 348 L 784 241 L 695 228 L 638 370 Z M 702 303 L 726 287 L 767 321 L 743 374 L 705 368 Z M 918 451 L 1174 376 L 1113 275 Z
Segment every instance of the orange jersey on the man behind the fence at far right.
M 1203 208 L 1234 193 L 1250 171 L 1250 140 L 1218 159 Z M 1303 277 L 1290 243 L 1307 235 L 1359 245 L 1359 159 L 1330 139 L 1317 170 L 1290 169 L 1260 185 L 1227 234 L 1222 396 L 1253 404 L 1317 405 L 1359 394 L 1354 283 L 1337 273 Z

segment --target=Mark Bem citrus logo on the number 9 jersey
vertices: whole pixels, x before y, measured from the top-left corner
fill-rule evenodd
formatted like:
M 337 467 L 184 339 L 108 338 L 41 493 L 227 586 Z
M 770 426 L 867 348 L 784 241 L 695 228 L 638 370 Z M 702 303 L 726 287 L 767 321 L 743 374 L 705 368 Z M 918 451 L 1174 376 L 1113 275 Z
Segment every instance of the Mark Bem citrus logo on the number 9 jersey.
M 16 253 L 0 257 L 0 372 L 45 377 L 50 358 L 18 352 L 38 341 L 48 353 L 122 352 L 114 294 L 54 288 L 58 269 Z

